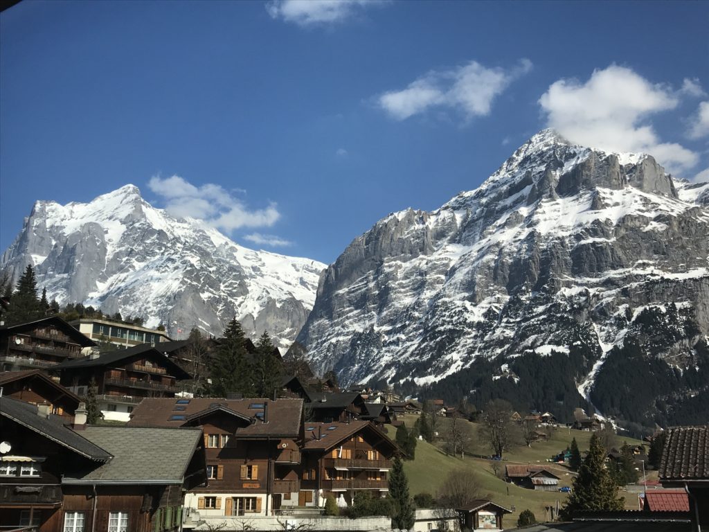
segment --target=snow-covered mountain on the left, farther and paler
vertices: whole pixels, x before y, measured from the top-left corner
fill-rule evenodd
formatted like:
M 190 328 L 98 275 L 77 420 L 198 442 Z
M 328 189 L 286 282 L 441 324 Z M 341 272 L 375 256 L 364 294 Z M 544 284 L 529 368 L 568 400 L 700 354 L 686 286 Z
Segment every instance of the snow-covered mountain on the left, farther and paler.
M 325 265 L 253 251 L 200 221 L 155 209 L 133 185 L 89 204 L 38 201 L 0 268 L 17 279 L 36 268 L 60 304 L 162 321 L 179 336 L 219 335 L 233 316 L 251 336 L 269 331 L 287 347 L 305 322 Z M 183 334 L 184 334 L 183 333 Z

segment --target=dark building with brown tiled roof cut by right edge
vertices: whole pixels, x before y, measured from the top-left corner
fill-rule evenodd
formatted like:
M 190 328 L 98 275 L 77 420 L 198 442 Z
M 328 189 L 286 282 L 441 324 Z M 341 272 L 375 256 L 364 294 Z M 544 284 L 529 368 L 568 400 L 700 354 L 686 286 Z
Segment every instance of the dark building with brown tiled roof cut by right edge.
M 667 429 L 659 480 L 688 494 L 693 530 L 709 526 L 709 426 Z

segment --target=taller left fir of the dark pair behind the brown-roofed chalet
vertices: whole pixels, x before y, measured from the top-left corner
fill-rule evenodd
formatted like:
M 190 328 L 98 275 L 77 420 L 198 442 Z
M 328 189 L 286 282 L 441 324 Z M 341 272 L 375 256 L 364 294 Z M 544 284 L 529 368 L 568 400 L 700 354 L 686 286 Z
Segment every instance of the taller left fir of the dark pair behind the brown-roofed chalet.
M 244 331 L 236 318 L 232 318 L 224 329 L 224 338 L 211 369 L 213 395 L 226 397 L 229 392 L 253 395 L 252 372 L 247 356 Z

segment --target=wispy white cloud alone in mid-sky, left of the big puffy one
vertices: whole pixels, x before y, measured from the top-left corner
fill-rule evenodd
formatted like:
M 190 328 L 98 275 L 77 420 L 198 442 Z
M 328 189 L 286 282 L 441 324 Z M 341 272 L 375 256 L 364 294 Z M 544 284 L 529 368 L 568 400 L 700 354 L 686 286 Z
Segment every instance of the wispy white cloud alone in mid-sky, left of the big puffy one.
M 496 96 L 531 69 L 532 62 L 527 59 L 510 70 L 486 68 L 471 61 L 462 67 L 428 72 L 406 89 L 381 94 L 376 103 L 396 120 L 406 120 L 435 106 L 457 109 L 470 120 L 488 115 Z

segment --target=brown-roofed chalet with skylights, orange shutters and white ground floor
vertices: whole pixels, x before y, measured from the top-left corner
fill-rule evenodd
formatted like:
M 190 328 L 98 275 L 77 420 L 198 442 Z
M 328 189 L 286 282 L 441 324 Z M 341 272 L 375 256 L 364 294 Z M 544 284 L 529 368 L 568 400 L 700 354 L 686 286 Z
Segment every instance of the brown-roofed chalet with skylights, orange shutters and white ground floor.
M 144 399 L 128 426 L 199 427 L 207 484 L 186 495 L 191 520 L 272 515 L 298 504 L 301 399 Z

